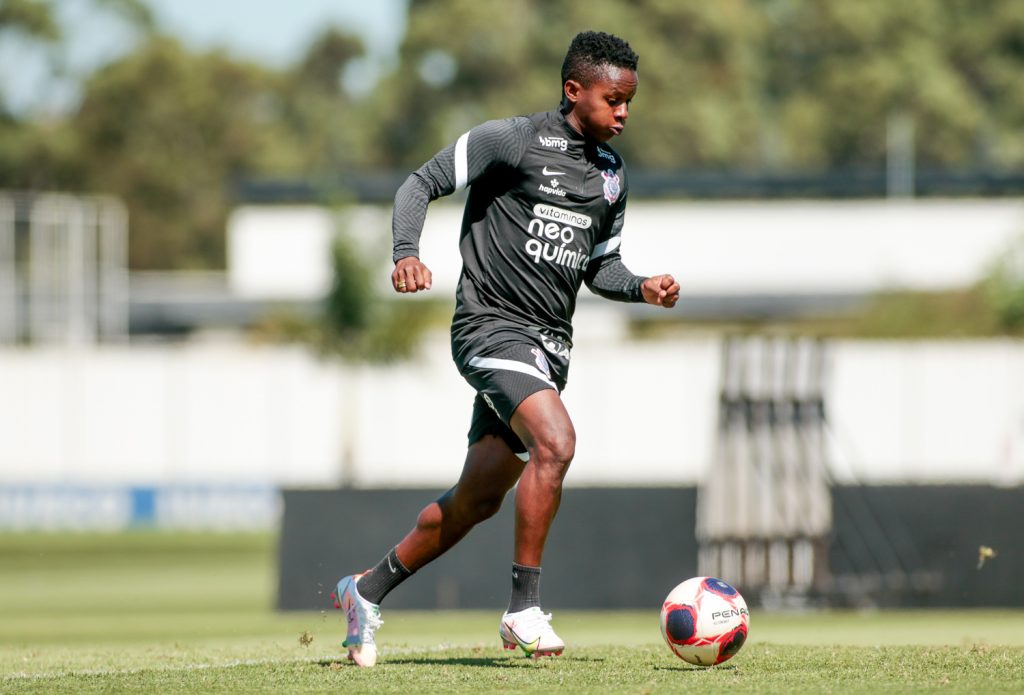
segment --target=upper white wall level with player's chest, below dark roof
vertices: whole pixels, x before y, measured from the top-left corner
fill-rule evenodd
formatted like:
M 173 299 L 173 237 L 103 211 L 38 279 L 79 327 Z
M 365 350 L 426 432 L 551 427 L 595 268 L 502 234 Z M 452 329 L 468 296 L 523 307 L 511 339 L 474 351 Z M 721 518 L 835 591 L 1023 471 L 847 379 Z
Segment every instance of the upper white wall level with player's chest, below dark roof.
M 428 210 L 420 256 L 435 296 L 451 297 L 459 279 L 462 213 L 455 200 Z M 355 206 L 337 218 L 379 254 L 381 290 L 390 290 L 390 214 Z M 240 208 L 228 222 L 232 288 L 245 297 L 318 298 L 330 284 L 334 220 L 311 206 Z M 1024 237 L 1024 202 L 635 201 L 623 233 L 631 269 L 675 273 L 688 296 L 935 290 L 974 283 Z

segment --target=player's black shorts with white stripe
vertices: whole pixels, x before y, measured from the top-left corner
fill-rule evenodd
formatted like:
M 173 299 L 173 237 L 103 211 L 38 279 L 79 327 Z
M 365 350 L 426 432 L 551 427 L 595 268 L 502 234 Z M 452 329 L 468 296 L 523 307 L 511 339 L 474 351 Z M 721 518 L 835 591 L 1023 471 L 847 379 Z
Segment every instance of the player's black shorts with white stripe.
M 476 389 L 469 443 L 493 434 L 516 454 L 525 454 L 526 446 L 509 421 L 519 404 L 538 391 L 562 392 L 569 371 L 568 346 L 540 333 L 531 336 L 499 329 L 474 347 L 462 351 L 465 361 L 456 359 L 463 378 Z

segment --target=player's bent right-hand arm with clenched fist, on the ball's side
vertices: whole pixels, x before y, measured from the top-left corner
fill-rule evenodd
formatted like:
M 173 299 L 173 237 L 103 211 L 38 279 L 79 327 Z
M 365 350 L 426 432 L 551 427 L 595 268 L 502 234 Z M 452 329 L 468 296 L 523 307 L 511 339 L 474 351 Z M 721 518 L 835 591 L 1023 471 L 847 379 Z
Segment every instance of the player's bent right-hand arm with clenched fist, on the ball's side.
M 679 284 L 672 275 L 645 277 L 634 274 L 623 263 L 621 247 L 626 199 L 611 222 L 608 237 L 595 247 L 584 280 L 591 292 L 617 302 L 646 302 L 670 308 L 679 301 Z

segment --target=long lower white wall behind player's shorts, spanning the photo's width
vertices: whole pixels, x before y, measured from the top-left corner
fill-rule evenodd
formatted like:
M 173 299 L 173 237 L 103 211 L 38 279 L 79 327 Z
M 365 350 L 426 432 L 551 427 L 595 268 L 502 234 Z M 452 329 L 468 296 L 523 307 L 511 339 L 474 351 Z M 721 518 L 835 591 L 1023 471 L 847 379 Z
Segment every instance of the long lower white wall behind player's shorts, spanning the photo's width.
M 718 360 L 713 338 L 581 338 L 565 392 L 579 435 L 569 484 L 698 480 L 714 454 Z M 837 473 L 1024 482 L 1022 384 L 1021 342 L 837 343 Z M 444 335 L 390 368 L 244 344 L 0 351 L 0 486 L 446 486 L 472 396 Z

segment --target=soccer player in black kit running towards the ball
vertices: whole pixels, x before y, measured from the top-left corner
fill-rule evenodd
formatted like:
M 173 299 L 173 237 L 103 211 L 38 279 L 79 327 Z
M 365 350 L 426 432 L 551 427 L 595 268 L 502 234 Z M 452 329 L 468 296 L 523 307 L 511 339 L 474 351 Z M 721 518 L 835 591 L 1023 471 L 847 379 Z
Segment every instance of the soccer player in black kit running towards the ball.
M 541 610 L 540 579 L 575 448 L 559 394 L 577 293 L 586 283 L 622 302 L 673 307 L 679 299 L 672 275 L 635 275 L 620 257 L 629 185 L 622 158 L 605 143 L 626 126 L 637 60 L 617 37 L 578 35 L 562 63 L 557 110 L 476 126 L 395 196 L 391 280 L 404 294 L 430 289 L 418 249 L 428 203 L 470 187 L 452 354 L 477 395 L 459 481 L 375 567 L 338 582 L 344 646 L 360 666 L 377 661 L 374 638 L 388 592 L 498 512 L 517 481 L 512 595 L 499 635 L 507 649 L 534 656 L 565 648 Z

